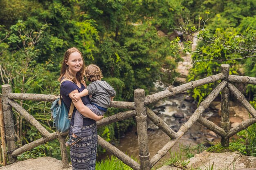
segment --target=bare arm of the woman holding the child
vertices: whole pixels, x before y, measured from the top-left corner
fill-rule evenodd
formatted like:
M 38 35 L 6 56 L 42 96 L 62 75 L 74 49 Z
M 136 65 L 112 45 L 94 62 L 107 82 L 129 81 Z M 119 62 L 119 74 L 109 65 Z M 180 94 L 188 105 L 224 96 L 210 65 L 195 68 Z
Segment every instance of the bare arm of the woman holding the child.
M 69 94 L 69 97 L 72 99 L 73 95 L 75 93 L 78 93 L 78 90 L 74 90 Z M 73 102 L 76 109 L 81 113 L 83 116 L 88 117 L 90 119 L 93 119 L 95 121 L 99 121 L 103 118 L 103 116 L 98 116 L 95 113 L 92 112 L 88 107 L 86 107 L 82 100 L 79 99 L 77 102 Z

